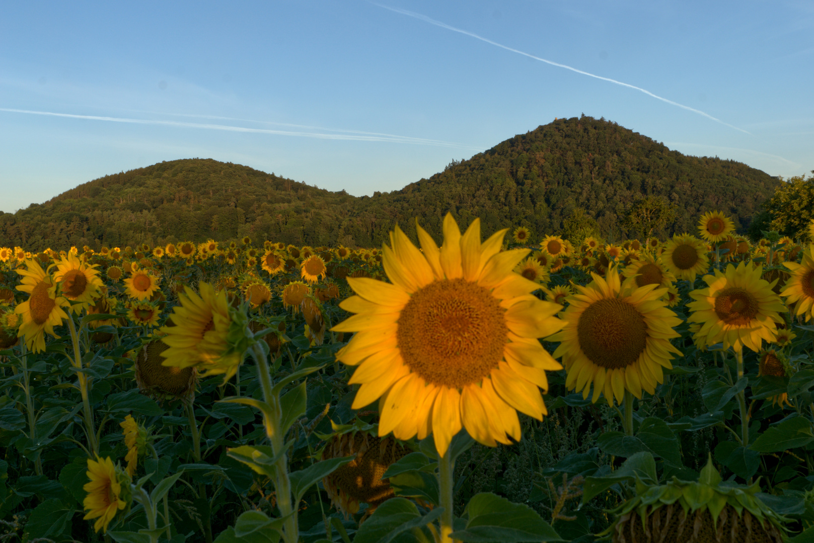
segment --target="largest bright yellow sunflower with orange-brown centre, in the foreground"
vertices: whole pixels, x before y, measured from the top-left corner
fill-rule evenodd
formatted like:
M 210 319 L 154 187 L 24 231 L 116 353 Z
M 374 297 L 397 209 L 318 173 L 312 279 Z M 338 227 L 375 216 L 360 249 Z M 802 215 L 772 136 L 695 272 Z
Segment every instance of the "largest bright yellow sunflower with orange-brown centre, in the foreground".
M 392 284 L 348 277 L 358 295 L 340 306 L 357 315 L 333 330 L 357 332 L 337 356 L 359 366 L 353 408 L 379 399 L 380 436 L 432 433 L 441 456 L 461 428 L 484 445 L 517 440 L 515 410 L 547 412 L 538 387 L 548 389 L 544 370 L 560 365 L 537 338 L 562 328 L 560 306 L 512 272 L 529 251 L 501 252 L 505 230 L 481 244 L 479 219 L 462 236 L 448 214 L 439 250 L 417 228 L 422 250 L 397 227 L 383 248 Z

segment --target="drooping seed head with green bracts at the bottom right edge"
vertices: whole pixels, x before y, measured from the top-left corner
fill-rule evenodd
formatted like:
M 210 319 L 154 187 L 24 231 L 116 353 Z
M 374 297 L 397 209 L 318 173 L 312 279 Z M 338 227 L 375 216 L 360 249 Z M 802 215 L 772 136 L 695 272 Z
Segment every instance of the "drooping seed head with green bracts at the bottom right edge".
M 786 541 L 783 518 L 762 502 L 760 485 L 721 484 L 709 459 L 698 482 L 673 477 L 666 484 L 638 482 L 636 495 L 612 512 L 616 519 L 599 535 L 612 543 L 663 541 Z

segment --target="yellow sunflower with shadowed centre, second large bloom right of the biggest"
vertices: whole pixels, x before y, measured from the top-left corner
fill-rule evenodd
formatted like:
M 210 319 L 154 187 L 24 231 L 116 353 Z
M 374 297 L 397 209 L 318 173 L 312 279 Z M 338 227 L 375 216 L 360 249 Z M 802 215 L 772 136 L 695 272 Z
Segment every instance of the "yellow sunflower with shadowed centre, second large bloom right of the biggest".
M 703 276 L 706 289 L 689 293 L 694 302 L 688 322 L 701 324 L 695 337 L 707 345 L 723 343 L 724 349 L 740 351 L 744 346 L 759 352 L 761 340 L 774 341 L 777 323 L 783 323 L 779 312 L 786 311 L 772 284 L 760 279 L 763 267 L 740 263 L 728 264 L 726 272 Z

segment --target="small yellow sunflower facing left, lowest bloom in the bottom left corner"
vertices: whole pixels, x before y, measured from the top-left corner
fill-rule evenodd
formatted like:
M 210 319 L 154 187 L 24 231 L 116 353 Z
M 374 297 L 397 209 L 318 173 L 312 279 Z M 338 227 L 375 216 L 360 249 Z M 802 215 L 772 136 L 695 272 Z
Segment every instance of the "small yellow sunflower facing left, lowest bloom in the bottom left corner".
M 94 531 L 102 529 L 107 533 L 107 525 L 116 516 L 116 511 L 123 510 L 128 505 L 129 500 L 122 498 L 129 494 L 129 476 L 114 466 L 110 457 L 104 460 L 98 457 L 96 460 L 88 458 L 87 476 L 90 483 L 82 487 L 88 493 L 82 506 L 88 513 L 83 519 L 97 519 Z

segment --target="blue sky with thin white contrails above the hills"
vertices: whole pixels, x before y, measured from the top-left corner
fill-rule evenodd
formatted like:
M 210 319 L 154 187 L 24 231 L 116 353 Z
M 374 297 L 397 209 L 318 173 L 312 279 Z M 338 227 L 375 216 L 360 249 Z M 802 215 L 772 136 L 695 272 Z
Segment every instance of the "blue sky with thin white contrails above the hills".
M 812 31 L 811 0 L 4 2 L 0 210 L 194 157 L 389 191 L 582 113 L 801 175 Z

